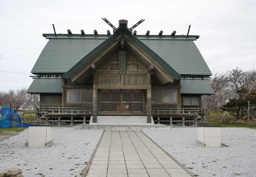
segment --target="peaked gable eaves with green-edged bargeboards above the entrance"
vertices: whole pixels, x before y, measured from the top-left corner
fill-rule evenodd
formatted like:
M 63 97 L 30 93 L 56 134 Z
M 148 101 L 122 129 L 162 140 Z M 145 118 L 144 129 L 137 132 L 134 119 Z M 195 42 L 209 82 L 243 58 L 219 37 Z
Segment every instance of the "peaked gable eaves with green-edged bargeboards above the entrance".
M 145 44 L 140 42 L 137 38 L 133 37 L 130 31 L 125 28 L 120 28 L 113 36 L 100 44 L 92 52 L 86 55 L 76 65 L 74 65 L 63 77 L 70 79 L 72 82 L 85 84 L 89 74 L 95 68 L 104 67 L 102 64 L 109 61 L 113 53 L 121 50 L 129 52 L 137 61 L 146 68 L 152 66 L 148 70 L 152 70 L 157 75 L 160 85 L 173 82 L 175 79 L 182 78 L 171 66 L 169 66 L 163 59 L 154 53 Z M 125 43 L 124 43 L 125 42 Z M 125 47 L 124 47 L 125 46 Z M 120 61 L 119 61 L 120 62 Z M 93 68 L 91 68 L 93 66 Z M 119 63 L 120 72 L 120 63 Z

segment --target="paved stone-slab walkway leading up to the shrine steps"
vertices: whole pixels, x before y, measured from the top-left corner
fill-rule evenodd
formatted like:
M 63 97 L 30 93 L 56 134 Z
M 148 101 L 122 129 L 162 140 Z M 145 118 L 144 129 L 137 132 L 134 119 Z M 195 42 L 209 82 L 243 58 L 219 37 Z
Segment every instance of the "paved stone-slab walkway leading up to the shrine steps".
M 139 130 L 105 131 L 86 177 L 191 177 Z

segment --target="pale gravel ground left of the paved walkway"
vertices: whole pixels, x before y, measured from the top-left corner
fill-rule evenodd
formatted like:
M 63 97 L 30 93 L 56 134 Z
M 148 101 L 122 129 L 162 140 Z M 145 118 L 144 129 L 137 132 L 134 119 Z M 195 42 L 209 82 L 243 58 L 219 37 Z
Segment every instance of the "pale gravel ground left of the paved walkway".
M 28 129 L 0 142 L 0 171 L 20 168 L 24 177 L 80 176 L 102 134 L 102 130 L 52 127 L 49 147 L 28 148 Z

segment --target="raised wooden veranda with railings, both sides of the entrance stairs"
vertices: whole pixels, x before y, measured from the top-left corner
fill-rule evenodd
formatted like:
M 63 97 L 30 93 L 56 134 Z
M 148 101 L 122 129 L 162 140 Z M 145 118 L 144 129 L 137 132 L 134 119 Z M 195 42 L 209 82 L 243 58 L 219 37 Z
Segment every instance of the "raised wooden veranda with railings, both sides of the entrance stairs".
M 158 108 L 152 109 L 155 124 L 195 125 L 202 121 L 204 109 L 199 108 Z M 100 113 L 103 114 L 103 113 Z M 93 111 L 81 107 L 45 107 L 37 109 L 37 120 L 46 124 L 73 125 L 89 123 Z

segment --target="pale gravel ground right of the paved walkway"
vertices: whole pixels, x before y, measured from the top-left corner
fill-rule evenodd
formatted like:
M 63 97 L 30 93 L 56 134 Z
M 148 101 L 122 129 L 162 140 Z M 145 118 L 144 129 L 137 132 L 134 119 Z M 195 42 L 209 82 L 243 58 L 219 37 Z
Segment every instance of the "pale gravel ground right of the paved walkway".
M 200 177 L 256 176 L 256 129 L 222 128 L 222 142 L 228 147 L 220 148 L 198 145 L 197 128 L 144 132 Z

